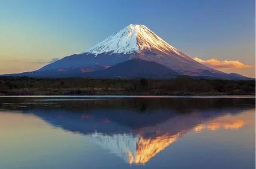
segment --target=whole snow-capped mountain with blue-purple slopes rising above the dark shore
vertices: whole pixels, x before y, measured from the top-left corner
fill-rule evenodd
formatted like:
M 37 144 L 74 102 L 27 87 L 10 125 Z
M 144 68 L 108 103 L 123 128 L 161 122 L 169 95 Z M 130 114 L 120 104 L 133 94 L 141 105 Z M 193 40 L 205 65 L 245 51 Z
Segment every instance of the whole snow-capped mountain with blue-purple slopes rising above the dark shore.
M 115 69 L 119 70 L 117 74 L 117 72 L 113 71 L 114 69 L 110 68 L 134 58 L 149 61 L 147 63 L 144 62 L 144 64 L 137 63 L 138 65 L 136 66 L 139 67 L 136 67 L 136 70 L 143 71 L 143 73 L 139 73 L 138 71 L 139 74 L 136 71 L 132 72 L 135 67 L 125 70 L 115 67 Z M 152 62 L 155 62 L 155 64 Z M 156 64 L 161 68 L 156 68 Z M 145 65 L 147 67 L 144 67 Z M 106 74 L 107 77 L 127 76 L 130 73 L 130 77 L 139 77 L 142 75 L 143 77 L 144 75 L 150 77 L 149 75 L 154 75 L 152 78 L 169 78 L 169 76 L 161 74 L 166 73 L 166 70 L 162 72 L 163 67 L 179 75 L 206 77 L 209 79 L 247 79 L 244 76 L 224 73 L 200 64 L 185 53 L 172 47 L 146 26 L 132 24 L 110 35 L 99 44 L 96 44 L 81 54 L 64 57 L 33 72 L 12 74 L 12 76 L 74 77 L 88 76 L 89 74 L 90 76 L 98 76 L 99 72 L 88 72 L 107 70 L 100 72 L 102 76 L 103 74 Z M 158 71 L 160 69 L 161 71 Z M 129 71 L 127 72 L 127 70 Z M 153 73 L 154 70 L 155 72 Z M 150 72 L 147 73 L 147 71 Z M 114 74 L 111 74 L 111 72 Z

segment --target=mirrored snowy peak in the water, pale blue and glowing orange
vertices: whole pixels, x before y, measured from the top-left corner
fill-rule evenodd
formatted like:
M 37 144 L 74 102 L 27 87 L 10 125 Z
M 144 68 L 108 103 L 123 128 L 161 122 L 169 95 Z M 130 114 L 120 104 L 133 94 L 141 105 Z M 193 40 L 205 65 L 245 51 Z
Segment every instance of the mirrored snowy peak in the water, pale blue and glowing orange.
M 182 136 L 182 132 L 174 135 L 163 134 L 153 138 L 146 138 L 139 134 L 109 135 L 97 132 L 86 136 L 129 164 L 145 164 L 157 153 L 177 141 Z

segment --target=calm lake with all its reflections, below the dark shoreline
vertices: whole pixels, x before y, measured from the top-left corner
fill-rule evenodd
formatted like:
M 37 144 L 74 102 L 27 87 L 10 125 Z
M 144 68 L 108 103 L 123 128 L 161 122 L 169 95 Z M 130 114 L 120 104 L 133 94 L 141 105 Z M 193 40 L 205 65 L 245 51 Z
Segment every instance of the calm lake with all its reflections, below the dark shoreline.
M 253 169 L 252 96 L 0 97 L 0 169 Z

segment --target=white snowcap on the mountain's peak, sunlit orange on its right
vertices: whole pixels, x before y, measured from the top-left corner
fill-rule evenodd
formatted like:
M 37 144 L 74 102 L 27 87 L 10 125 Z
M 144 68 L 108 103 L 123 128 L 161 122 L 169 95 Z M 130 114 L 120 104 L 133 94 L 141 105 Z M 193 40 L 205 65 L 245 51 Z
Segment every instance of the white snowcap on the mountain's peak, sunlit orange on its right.
M 108 38 L 85 52 L 93 53 L 95 55 L 103 52 L 131 54 L 143 50 L 159 50 L 167 55 L 169 55 L 169 52 L 184 55 L 182 52 L 162 40 L 162 38 L 157 36 L 146 26 L 133 24 L 110 35 Z

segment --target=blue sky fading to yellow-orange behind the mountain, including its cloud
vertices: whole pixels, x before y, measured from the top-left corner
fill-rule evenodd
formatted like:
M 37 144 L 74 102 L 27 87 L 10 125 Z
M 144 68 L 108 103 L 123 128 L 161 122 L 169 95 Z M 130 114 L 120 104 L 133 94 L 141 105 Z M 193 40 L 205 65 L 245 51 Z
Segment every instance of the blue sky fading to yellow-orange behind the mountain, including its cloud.
M 0 0 L 0 74 L 81 53 L 129 24 L 209 67 L 255 77 L 255 0 Z

